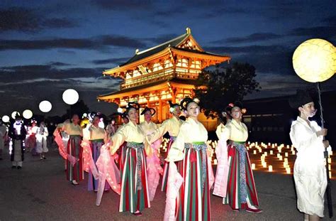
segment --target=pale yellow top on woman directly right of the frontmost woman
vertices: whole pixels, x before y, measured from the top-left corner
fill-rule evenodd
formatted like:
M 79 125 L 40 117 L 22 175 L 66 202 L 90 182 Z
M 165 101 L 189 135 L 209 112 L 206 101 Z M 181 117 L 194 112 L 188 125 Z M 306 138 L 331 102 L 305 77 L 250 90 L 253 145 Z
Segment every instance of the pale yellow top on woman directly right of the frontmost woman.
M 231 140 L 245 142 L 247 141 L 248 136 L 247 126 L 244 123 L 237 122 L 233 119 L 225 125 L 218 138 L 224 139 L 225 141 Z

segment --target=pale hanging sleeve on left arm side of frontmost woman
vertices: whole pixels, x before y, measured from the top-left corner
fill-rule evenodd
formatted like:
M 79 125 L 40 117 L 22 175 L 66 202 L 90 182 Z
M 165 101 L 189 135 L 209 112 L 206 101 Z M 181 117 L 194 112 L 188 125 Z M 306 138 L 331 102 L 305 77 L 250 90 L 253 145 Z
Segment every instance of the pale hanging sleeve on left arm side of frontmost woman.
M 166 158 L 166 161 L 181 161 L 184 158 L 184 143 L 185 143 L 185 137 L 184 134 L 188 133 L 187 124 L 182 124 L 179 135 L 177 135 L 176 141 L 172 144 L 172 147 L 170 148 L 170 151 L 168 153 L 168 156 Z

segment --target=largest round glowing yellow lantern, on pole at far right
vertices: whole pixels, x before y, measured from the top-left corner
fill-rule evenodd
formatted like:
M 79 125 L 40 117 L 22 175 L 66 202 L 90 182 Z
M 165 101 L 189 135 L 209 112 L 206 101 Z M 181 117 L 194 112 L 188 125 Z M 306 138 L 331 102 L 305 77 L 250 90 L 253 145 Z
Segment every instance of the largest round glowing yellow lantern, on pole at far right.
M 328 80 L 336 72 L 335 46 L 320 38 L 301 43 L 293 54 L 293 68 L 308 82 Z

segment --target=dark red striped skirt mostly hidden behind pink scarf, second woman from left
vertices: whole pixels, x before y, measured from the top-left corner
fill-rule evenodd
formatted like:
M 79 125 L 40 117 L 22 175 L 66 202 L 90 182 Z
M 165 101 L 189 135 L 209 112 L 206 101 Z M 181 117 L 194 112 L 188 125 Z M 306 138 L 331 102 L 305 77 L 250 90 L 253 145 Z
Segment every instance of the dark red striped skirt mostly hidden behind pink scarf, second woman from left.
M 101 146 L 103 146 L 103 139 L 91 141 L 91 152 L 92 158 L 94 159 L 94 163 L 98 160 L 99 156 L 101 155 Z M 92 175 L 91 170 L 89 171 L 88 175 L 88 183 L 87 183 L 87 190 L 89 191 L 98 191 L 98 182 L 99 180 L 95 180 L 94 176 Z M 110 185 L 105 182 L 104 190 L 108 190 Z

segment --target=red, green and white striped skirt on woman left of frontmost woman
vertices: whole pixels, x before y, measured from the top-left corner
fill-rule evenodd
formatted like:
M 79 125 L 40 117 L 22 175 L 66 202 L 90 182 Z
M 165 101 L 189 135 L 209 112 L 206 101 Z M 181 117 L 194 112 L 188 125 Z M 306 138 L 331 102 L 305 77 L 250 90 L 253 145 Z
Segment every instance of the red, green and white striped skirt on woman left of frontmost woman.
M 132 148 L 129 145 L 130 143 L 125 149 L 125 161 L 121 171 L 119 212 L 136 212 L 150 207 L 145 151 L 143 148 Z

